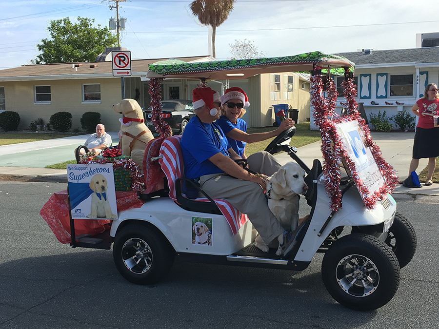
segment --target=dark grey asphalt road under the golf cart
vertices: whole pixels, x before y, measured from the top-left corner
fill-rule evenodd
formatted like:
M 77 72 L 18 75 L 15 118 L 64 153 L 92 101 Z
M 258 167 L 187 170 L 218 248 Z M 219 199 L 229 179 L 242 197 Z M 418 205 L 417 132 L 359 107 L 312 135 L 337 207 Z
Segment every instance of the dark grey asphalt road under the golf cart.
M 131 284 L 111 251 L 62 245 L 40 217 L 50 194 L 65 189 L 0 181 L 0 329 L 438 327 L 435 200 L 395 196 L 416 229 L 418 250 L 401 270 L 395 297 L 379 310 L 360 312 L 326 292 L 322 254 L 302 272 L 176 261 L 160 284 Z

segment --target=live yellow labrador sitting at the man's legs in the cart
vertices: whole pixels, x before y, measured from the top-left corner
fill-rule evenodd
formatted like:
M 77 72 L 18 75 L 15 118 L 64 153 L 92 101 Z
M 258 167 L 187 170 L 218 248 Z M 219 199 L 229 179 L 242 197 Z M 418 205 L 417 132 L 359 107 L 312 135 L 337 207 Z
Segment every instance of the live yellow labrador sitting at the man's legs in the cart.
M 296 162 L 288 162 L 273 174 L 267 183 L 268 208 L 279 220 L 285 231 L 294 231 L 299 221 L 299 195 L 308 190 L 305 181 L 305 171 L 300 168 Z M 268 252 L 269 246 L 265 244 L 260 236 L 256 237 L 256 247 L 263 252 Z M 283 253 L 280 246 L 276 252 L 277 255 Z

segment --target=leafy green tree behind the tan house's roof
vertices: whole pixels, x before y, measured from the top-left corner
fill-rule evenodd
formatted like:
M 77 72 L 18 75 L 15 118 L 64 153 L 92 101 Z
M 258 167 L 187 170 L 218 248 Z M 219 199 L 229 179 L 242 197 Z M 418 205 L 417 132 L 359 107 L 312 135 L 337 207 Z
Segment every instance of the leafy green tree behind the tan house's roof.
M 93 27 L 94 19 L 78 17 L 51 20 L 47 27 L 50 39 L 37 45 L 41 52 L 32 62 L 36 64 L 94 62 L 105 47 L 114 47 L 118 41 L 107 27 Z

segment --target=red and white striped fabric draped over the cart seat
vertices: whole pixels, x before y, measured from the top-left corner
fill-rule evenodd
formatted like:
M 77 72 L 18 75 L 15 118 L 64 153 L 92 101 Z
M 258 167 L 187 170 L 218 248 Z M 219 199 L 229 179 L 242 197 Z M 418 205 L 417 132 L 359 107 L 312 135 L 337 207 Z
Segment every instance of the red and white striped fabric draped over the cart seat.
M 161 144 L 160 155 L 162 158 L 159 159 L 161 169 L 168 179 L 169 185 L 169 197 L 174 201 L 177 200 L 176 190 L 175 190 L 175 180 L 177 178 L 183 177 L 184 167 L 183 167 L 183 155 L 181 154 L 180 148 L 181 135 L 171 136 L 166 138 Z M 197 201 L 209 201 L 207 198 L 199 197 Z M 230 203 L 225 200 L 214 199 L 221 213 L 226 218 L 230 225 L 230 229 L 235 235 L 239 228 L 248 220 L 247 215 L 239 212 L 238 209 L 233 207 Z

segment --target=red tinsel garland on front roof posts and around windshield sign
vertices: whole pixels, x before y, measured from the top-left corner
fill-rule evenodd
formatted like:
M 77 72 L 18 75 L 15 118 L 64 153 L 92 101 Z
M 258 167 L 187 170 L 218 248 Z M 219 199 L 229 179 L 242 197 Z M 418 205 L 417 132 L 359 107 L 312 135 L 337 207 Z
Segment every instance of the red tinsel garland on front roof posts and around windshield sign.
M 353 79 L 348 77 L 342 82 L 342 87 L 344 88 L 344 97 L 347 101 L 345 107 L 346 115 L 343 117 L 340 117 L 335 112 L 338 93 L 334 80 L 331 77 L 326 77 L 325 87 L 328 94 L 327 99 L 322 96 L 323 79 L 321 75 L 316 74 L 311 77 L 311 103 L 314 107 L 315 123 L 319 126 L 321 132 L 321 150 L 324 158 L 324 185 L 326 193 L 331 197 L 330 208 L 333 211 L 337 211 L 339 208 L 341 208 L 339 164 L 342 158 L 344 158 L 363 199 L 364 205 L 367 209 L 372 209 L 375 207 L 376 201 L 382 199 L 386 193 L 391 193 L 395 186 L 397 186 L 398 176 L 393 167 L 390 166 L 382 157 L 378 145 L 372 141 L 369 127 L 357 111 L 358 104 L 355 100 L 355 97 L 357 96 L 357 89 L 353 83 Z M 379 191 L 374 192 L 373 194 L 370 194 L 369 189 L 359 178 L 359 173 L 356 170 L 355 163 L 348 156 L 345 148 L 342 145 L 342 141 L 337 134 L 337 124 L 352 120 L 357 120 L 359 122 L 366 142 L 377 163 L 379 171 L 385 180 L 384 185 L 379 189 Z

